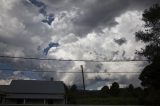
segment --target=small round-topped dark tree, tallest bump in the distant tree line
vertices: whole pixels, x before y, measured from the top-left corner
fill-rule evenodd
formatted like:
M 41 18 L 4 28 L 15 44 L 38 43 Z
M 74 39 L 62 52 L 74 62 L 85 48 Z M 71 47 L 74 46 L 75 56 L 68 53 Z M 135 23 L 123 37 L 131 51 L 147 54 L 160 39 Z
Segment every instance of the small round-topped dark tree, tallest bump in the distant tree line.
M 119 84 L 117 82 L 113 82 L 110 88 L 111 96 L 118 96 L 119 94 Z

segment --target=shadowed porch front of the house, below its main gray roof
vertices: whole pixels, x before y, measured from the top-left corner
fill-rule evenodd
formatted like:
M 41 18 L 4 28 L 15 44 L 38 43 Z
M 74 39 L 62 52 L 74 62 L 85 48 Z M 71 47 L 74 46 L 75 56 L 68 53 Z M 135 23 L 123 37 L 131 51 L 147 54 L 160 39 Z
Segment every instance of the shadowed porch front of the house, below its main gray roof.
M 45 98 L 46 97 L 46 98 Z M 65 97 L 49 99 L 48 97 L 59 97 L 58 95 L 46 94 L 7 94 L 3 99 L 4 104 L 65 104 Z

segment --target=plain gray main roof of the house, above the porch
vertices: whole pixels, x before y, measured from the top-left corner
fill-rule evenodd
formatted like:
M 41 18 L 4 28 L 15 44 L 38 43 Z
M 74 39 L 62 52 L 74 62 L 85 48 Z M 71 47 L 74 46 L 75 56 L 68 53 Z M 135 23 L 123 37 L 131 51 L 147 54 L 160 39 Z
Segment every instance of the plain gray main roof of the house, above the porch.
M 7 88 L 10 93 L 29 94 L 64 94 L 64 83 L 62 81 L 41 80 L 12 80 Z

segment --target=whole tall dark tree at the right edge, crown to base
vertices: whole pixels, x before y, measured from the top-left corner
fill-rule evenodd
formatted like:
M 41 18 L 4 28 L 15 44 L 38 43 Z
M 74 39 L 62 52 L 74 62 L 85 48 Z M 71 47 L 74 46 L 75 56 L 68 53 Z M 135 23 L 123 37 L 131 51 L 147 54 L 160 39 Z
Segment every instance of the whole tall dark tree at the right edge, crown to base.
M 145 56 L 150 64 L 143 69 L 139 79 L 145 87 L 160 88 L 160 6 L 155 4 L 146 9 L 142 17 L 144 30 L 136 32 L 136 38 L 146 43 L 146 47 L 137 53 Z

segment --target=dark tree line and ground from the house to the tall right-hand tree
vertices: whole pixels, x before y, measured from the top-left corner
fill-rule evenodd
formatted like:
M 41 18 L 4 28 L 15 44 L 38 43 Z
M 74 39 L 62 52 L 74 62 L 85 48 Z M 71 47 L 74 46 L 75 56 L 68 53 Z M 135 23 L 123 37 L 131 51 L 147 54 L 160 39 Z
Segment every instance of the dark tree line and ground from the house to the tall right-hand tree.
M 120 88 L 119 83 L 113 82 L 111 86 L 103 86 L 100 90 L 81 90 L 74 84 L 66 88 L 68 104 L 154 104 L 155 100 L 150 98 L 151 90 L 148 88 L 134 87 L 129 84 Z M 152 93 L 153 94 L 153 93 Z

